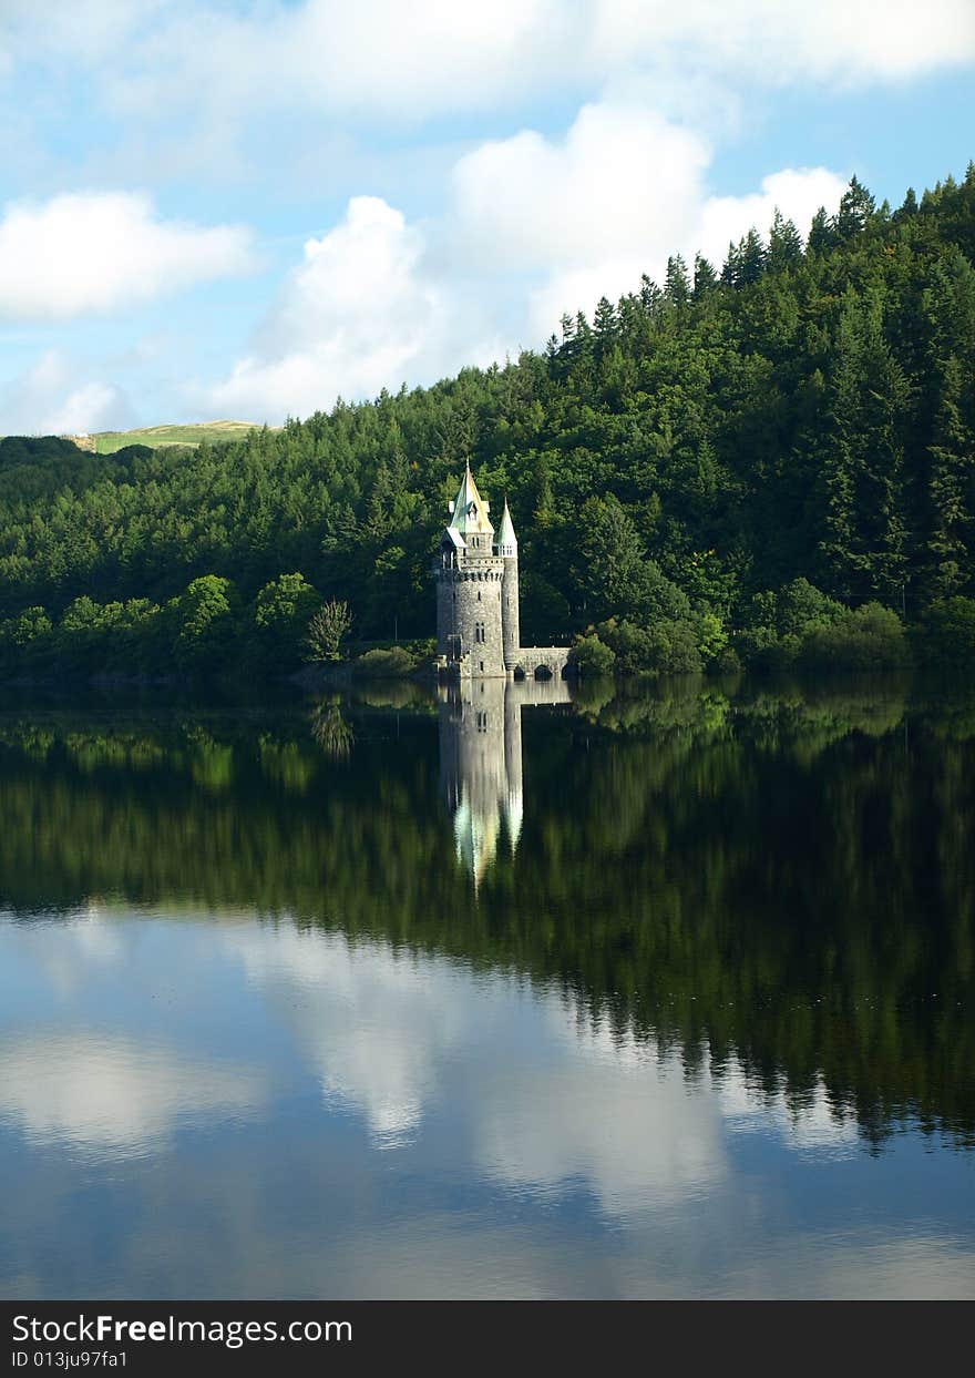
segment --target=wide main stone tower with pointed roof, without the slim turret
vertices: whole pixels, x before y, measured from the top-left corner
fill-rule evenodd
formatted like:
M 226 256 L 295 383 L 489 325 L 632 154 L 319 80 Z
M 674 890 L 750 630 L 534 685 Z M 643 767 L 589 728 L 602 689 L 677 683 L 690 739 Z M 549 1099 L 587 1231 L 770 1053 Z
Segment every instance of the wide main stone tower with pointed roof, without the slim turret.
M 439 558 L 434 566 L 437 653 L 453 674 L 503 677 L 501 590 L 510 561 L 496 553 L 489 506 L 478 492 L 470 464 L 448 510 L 450 524 L 441 537 Z

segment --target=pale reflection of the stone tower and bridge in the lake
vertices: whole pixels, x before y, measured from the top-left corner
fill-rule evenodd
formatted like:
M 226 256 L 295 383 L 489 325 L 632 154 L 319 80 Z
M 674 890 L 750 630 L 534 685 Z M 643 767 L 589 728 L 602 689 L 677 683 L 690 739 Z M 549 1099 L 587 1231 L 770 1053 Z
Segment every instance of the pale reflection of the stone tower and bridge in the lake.
M 559 679 L 468 679 L 441 689 L 441 790 L 457 860 L 476 890 L 504 831 L 514 853 L 525 816 L 522 710 L 570 703 Z

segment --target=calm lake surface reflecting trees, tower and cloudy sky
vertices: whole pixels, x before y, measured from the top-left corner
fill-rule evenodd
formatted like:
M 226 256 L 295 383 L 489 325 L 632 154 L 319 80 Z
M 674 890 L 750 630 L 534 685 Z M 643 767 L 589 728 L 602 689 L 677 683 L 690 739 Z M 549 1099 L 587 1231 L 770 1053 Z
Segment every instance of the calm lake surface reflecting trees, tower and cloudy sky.
M 975 1297 L 975 697 L 370 699 L 0 712 L 0 1295 Z

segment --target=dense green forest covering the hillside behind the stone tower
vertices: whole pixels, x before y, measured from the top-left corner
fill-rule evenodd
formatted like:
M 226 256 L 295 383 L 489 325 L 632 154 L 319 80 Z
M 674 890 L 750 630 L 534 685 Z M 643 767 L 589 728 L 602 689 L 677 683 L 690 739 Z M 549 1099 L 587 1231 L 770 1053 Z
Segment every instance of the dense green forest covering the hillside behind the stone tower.
M 468 459 L 511 504 L 523 642 L 584 672 L 971 663 L 975 164 L 895 209 L 854 178 L 804 237 L 777 214 L 633 288 L 516 361 L 226 445 L 0 441 L 0 677 L 394 641 L 410 668 Z M 344 641 L 310 642 L 340 604 Z

